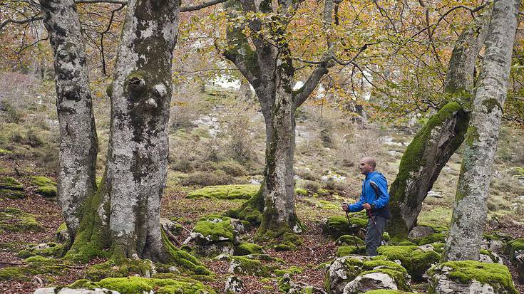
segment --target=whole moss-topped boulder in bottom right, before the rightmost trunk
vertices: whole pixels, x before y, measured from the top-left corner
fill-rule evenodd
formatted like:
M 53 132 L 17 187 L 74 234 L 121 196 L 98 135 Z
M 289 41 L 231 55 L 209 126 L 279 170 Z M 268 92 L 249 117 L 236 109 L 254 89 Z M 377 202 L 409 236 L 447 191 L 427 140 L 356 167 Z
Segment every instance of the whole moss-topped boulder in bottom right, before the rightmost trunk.
M 517 294 L 510 271 L 498 263 L 449 261 L 428 271 L 428 293 Z

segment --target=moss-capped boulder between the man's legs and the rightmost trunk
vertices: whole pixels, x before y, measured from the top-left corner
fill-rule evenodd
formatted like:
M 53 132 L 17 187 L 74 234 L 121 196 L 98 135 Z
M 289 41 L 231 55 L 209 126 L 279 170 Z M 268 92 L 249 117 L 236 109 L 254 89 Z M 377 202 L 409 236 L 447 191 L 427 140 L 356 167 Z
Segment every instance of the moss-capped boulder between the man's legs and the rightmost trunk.
M 441 254 L 430 246 L 380 246 L 377 252 L 389 261 L 400 261 L 413 280 L 422 280 L 428 268 L 441 258 Z

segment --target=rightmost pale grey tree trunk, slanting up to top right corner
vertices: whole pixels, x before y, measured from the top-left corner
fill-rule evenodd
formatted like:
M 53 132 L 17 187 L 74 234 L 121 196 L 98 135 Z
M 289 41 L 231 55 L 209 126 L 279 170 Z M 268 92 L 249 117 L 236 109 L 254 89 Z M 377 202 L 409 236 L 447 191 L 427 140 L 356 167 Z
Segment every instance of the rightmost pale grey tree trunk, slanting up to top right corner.
M 444 261 L 478 260 L 520 1 L 493 4 Z

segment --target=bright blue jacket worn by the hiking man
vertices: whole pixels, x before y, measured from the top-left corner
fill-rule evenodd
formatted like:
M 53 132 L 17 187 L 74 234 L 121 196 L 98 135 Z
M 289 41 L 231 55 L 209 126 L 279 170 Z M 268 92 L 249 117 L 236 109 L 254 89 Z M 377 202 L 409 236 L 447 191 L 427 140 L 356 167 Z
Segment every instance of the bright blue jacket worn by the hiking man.
M 371 183 L 376 184 L 378 193 L 371 186 Z M 362 182 L 362 194 L 359 201 L 349 206 L 349 211 L 361 211 L 364 209 L 364 203 L 371 204 L 371 215 L 384 216 L 389 219 L 389 193 L 388 181 L 380 172 L 369 172 Z

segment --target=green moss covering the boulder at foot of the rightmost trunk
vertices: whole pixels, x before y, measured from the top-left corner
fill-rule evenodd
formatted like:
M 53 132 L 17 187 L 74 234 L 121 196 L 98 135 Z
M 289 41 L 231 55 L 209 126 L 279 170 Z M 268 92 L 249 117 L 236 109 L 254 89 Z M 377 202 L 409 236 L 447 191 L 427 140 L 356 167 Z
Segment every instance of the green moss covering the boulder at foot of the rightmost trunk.
M 443 268 L 451 268 L 451 271 L 447 274 L 451 280 L 456 280 L 464 284 L 476 280 L 481 284 L 492 285 L 495 293 L 518 293 L 515 285 L 513 285 L 508 267 L 501 264 L 481 263 L 479 261 L 448 261 L 431 268 L 428 271 L 430 278 L 436 271 L 441 271 Z M 498 290 L 501 290 L 500 288 L 503 288 L 505 292 L 499 292 Z

